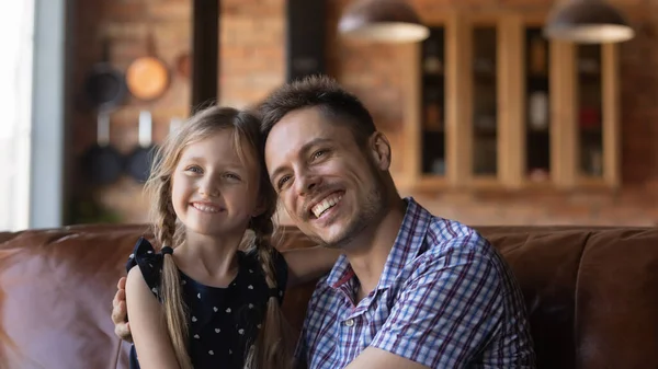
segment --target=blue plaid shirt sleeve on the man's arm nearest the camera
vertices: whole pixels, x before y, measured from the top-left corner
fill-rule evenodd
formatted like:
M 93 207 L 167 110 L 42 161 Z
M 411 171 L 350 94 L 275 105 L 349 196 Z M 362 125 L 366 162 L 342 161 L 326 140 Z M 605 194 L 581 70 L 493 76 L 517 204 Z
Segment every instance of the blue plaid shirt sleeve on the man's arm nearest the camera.
M 464 242 L 419 257 L 371 346 L 430 368 L 468 366 L 504 312 L 497 268 L 481 247 Z

